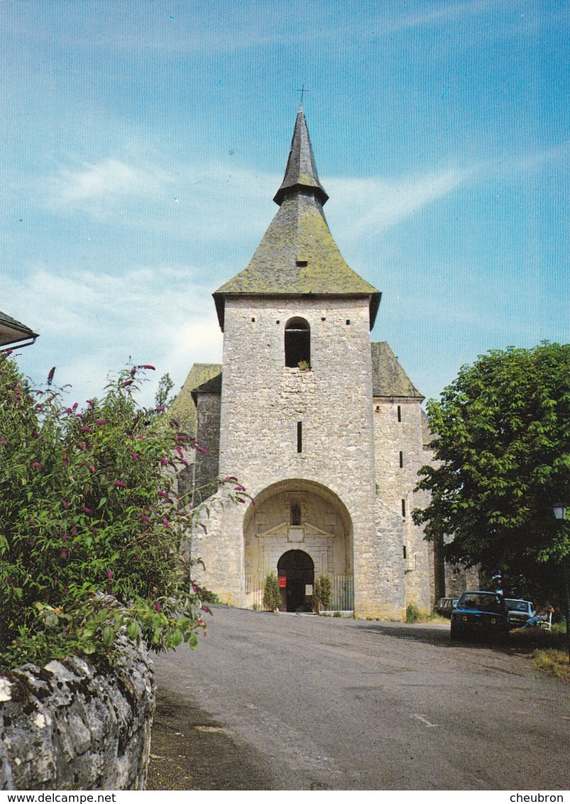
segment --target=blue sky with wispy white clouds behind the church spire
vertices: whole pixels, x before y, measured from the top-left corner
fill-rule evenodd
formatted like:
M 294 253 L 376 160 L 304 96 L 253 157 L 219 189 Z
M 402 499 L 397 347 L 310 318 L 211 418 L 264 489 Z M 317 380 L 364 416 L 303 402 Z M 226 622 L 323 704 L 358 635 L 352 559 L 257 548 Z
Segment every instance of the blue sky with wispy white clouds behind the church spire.
M 426 396 L 568 342 L 568 3 L 3 0 L 0 310 L 80 404 L 219 362 L 301 85 L 331 232 Z M 70 400 L 72 401 L 72 400 Z

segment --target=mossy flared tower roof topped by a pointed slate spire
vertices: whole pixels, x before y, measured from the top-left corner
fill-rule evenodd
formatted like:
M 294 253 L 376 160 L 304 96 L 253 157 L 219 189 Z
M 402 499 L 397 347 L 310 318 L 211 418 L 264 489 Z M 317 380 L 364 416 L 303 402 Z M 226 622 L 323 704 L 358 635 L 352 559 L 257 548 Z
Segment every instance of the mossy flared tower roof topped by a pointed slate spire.
M 300 108 L 285 178 L 275 196 L 279 211 L 246 268 L 214 293 L 222 330 L 226 297 L 256 295 L 366 297 L 374 325 L 381 294 L 338 251 L 322 211 L 327 198 Z

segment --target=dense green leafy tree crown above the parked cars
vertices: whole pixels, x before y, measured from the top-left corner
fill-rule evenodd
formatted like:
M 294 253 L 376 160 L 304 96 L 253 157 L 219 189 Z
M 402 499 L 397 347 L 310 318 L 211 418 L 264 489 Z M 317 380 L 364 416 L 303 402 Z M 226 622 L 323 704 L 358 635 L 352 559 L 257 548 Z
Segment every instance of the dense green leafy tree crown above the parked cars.
M 570 502 L 570 345 L 490 351 L 428 404 L 434 466 L 414 511 L 453 563 L 500 574 L 506 593 L 547 589 L 570 554 L 552 505 Z

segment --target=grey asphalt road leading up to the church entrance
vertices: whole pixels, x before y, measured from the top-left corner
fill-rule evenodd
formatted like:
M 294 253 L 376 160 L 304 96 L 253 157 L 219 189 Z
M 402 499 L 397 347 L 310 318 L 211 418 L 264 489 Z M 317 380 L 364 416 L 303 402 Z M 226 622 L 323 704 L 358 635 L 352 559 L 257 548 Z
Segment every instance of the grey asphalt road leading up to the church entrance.
M 154 790 L 568 790 L 568 684 L 449 626 L 214 610 L 156 658 Z

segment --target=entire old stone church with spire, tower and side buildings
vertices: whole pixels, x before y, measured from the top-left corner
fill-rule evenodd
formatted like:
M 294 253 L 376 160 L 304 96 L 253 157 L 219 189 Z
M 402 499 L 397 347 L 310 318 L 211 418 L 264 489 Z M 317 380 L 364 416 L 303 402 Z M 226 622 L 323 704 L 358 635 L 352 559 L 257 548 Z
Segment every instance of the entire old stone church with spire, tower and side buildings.
M 191 552 L 197 580 L 232 605 L 260 608 L 274 572 L 282 609 L 310 610 L 329 576 L 331 609 L 403 619 L 445 594 L 438 551 L 412 521 L 431 460 L 424 397 L 388 343 L 371 343 L 381 294 L 339 252 L 327 199 L 300 106 L 277 214 L 213 294 L 223 363 L 192 367 L 172 408 L 207 449 L 196 494 L 223 502 L 210 484 L 236 476 L 255 501 L 211 498 Z

